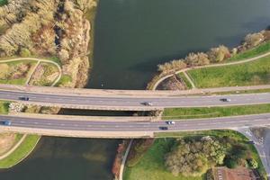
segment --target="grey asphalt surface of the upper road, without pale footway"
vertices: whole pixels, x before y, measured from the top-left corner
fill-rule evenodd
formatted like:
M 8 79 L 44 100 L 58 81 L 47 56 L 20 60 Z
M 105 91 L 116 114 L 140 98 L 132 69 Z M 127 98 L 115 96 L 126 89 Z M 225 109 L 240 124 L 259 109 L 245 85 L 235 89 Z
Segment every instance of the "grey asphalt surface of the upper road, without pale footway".
M 230 95 L 205 95 L 205 96 L 80 96 L 75 94 L 41 94 L 0 90 L 0 99 L 19 101 L 19 97 L 29 97 L 29 101 L 23 103 L 48 104 L 60 107 L 73 107 L 85 109 L 128 109 L 128 110 L 151 110 L 169 107 L 207 107 L 229 106 L 242 104 L 270 103 L 270 93 L 263 94 L 230 94 Z M 230 102 L 222 102 L 221 98 L 229 98 Z M 152 106 L 146 106 L 143 102 L 151 102 Z

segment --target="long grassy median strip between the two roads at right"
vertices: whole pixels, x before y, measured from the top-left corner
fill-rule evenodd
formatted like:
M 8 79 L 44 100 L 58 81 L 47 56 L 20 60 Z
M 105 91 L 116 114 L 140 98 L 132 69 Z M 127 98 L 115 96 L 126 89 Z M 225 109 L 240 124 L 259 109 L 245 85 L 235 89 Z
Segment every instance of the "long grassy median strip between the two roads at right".
M 270 112 L 270 103 L 226 107 L 168 108 L 162 114 L 164 120 L 214 118 Z

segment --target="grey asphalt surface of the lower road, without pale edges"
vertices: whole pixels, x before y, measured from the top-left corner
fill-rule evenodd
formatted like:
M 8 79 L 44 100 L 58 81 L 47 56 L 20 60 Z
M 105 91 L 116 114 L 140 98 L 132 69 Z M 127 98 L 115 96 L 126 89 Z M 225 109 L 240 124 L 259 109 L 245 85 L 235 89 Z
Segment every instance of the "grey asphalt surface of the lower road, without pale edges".
M 23 127 L 45 130 L 82 130 L 82 131 L 188 131 L 188 130 L 215 130 L 215 129 L 231 129 L 238 127 L 250 127 L 258 125 L 270 124 L 270 113 L 232 116 L 211 119 L 194 119 L 186 121 L 175 121 L 175 125 L 166 125 L 165 121 L 81 121 L 80 119 L 65 120 L 46 118 L 31 118 L 23 116 L 0 115 L 1 125 L 3 121 L 11 121 L 11 127 Z M 168 130 L 160 130 L 160 126 L 168 127 Z

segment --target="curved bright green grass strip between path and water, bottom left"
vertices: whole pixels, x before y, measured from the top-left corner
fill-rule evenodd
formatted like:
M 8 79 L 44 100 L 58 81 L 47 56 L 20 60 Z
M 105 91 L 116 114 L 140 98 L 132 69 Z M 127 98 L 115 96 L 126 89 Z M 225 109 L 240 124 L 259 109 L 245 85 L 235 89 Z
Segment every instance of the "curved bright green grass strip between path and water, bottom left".
M 40 136 L 28 135 L 21 146 L 16 148 L 14 152 L 4 159 L 0 160 L 0 168 L 9 168 L 20 163 L 25 157 L 27 157 L 33 148 L 35 148 L 38 143 Z

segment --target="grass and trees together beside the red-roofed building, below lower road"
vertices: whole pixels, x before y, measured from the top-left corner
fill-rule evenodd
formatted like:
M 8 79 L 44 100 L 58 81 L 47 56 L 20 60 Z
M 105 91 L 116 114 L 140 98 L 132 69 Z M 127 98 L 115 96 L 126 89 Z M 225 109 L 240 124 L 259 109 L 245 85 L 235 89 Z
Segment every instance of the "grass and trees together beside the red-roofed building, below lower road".
M 256 149 L 236 131 L 173 133 L 180 139 L 156 139 L 139 163 L 125 168 L 124 179 L 201 180 L 206 178 L 207 169 L 212 166 L 232 168 L 231 164 L 255 168 L 266 177 Z

